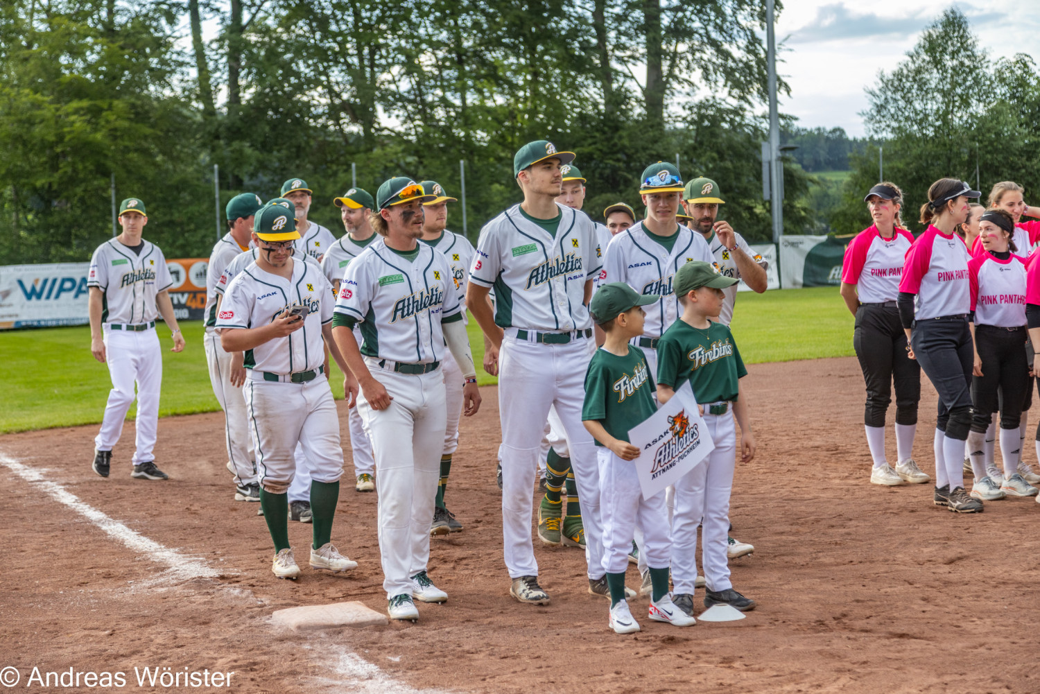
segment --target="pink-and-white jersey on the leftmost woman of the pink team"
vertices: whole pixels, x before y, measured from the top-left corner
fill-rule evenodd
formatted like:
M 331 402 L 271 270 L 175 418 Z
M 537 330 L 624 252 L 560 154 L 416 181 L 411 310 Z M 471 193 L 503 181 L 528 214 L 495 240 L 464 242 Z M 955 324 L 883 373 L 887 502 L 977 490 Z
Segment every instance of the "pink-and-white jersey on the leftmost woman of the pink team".
M 846 249 L 841 281 L 855 284 L 859 301 L 864 304 L 895 301 L 903 263 L 912 243 L 913 235 L 906 229 L 896 229 L 890 239 L 884 238 L 877 226 L 864 229 Z

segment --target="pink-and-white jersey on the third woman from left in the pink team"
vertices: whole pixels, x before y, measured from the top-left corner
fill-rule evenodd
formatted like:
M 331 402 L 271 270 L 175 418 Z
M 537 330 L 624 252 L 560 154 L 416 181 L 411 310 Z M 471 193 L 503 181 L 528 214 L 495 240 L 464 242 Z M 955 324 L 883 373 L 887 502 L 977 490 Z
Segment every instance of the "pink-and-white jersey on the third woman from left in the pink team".
M 1012 255 L 1000 260 L 987 253 L 968 262 L 971 310 L 977 326 L 1017 328 L 1025 325 L 1025 261 Z

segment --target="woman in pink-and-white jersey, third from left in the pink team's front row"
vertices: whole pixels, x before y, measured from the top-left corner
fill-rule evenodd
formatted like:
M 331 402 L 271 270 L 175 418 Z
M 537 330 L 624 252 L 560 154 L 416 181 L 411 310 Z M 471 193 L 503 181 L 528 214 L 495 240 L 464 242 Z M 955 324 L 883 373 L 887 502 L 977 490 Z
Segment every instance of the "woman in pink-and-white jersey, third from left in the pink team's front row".
M 974 474 L 971 496 L 984 500 L 1006 495 L 1034 496 L 1037 488 L 1031 487 L 1017 470 L 1018 423 L 1030 383 L 1025 359 L 1025 261 L 1014 255 L 1015 226 L 1010 214 L 987 210 L 979 228 L 984 253 L 968 262 L 969 325 L 974 339 L 971 381 L 974 413 L 968 434 Z M 998 397 L 998 390 L 1003 397 Z M 1003 475 L 987 469 L 983 455 L 990 413 L 998 403 Z

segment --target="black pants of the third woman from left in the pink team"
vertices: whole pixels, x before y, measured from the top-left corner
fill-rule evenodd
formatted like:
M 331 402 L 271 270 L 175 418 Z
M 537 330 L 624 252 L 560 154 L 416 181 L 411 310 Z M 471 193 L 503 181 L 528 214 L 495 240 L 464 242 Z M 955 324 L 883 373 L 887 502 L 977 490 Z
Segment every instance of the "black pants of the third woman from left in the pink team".
M 1000 429 L 1017 429 L 1025 393 L 1032 385 L 1025 358 L 1025 326 L 1013 330 L 976 326 L 976 349 L 982 359 L 983 375 L 971 377 L 971 401 L 974 403 L 971 431 L 985 432 L 990 413 L 997 405 Z

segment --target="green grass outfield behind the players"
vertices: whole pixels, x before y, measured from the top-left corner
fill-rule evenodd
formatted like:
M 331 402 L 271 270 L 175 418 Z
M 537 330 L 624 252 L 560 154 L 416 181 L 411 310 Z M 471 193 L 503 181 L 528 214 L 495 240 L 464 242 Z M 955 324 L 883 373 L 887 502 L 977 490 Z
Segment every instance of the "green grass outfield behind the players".
M 843 357 L 853 354 L 852 316 L 833 287 L 742 292 L 737 298 L 733 334 L 748 363 Z M 163 346 L 160 416 L 217 409 L 209 385 L 203 326 L 182 323 L 187 346 L 173 354 L 170 332 L 160 326 Z M 474 322 L 470 343 L 477 364 L 484 339 Z M 0 414 L 0 433 L 97 423 L 111 384 L 108 368 L 90 355 L 85 326 L 0 333 L 0 377 L 7 404 Z M 342 396 L 343 377 L 333 364 L 333 392 Z M 477 366 L 480 385 L 496 380 Z M 131 409 L 132 417 L 134 410 Z

